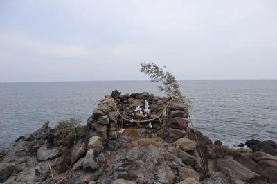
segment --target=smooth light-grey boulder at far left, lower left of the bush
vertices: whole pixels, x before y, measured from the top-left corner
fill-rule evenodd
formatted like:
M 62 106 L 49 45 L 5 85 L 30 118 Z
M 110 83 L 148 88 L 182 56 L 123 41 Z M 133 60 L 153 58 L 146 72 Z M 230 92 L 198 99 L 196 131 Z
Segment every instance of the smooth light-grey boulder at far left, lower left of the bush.
M 58 147 L 53 147 L 49 149 L 48 145 L 42 145 L 37 149 L 37 160 L 53 160 L 61 155 L 61 151 Z

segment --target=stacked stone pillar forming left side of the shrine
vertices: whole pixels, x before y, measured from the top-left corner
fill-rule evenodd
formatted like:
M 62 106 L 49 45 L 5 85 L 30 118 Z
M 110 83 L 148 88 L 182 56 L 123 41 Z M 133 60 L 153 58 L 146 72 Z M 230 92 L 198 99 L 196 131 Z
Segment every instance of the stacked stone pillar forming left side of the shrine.
M 118 136 L 118 114 L 114 104 L 107 98 L 98 104 L 87 123 L 94 130 L 95 136 L 103 140 L 107 139 L 107 135 L 112 139 Z

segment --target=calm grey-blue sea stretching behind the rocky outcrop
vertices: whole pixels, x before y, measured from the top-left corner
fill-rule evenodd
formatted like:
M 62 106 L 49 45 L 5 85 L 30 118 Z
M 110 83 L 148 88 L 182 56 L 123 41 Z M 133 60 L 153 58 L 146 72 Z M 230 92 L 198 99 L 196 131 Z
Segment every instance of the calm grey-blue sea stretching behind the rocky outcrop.
M 238 145 L 245 140 L 277 140 L 277 80 L 183 80 L 193 102 L 195 127 L 212 140 Z M 69 117 L 82 122 L 93 104 L 114 89 L 161 95 L 147 81 L 34 82 L 0 84 L 0 149 L 19 136 Z

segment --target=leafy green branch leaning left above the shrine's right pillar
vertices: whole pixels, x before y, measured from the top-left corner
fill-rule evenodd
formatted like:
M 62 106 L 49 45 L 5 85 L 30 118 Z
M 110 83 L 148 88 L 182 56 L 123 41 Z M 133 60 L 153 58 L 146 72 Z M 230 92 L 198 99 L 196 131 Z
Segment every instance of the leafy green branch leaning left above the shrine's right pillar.
M 166 66 L 163 66 L 163 68 L 166 68 Z M 186 102 L 186 97 L 181 92 L 175 76 L 168 71 L 163 71 L 163 68 L 160 68 L 154 62 L 141 63 L 141 72 L 149 75 L 151 82 L 161 82 L 162 86 L 159 86 L 161 92 L 168 97 L 177 97 L 181 102 Z

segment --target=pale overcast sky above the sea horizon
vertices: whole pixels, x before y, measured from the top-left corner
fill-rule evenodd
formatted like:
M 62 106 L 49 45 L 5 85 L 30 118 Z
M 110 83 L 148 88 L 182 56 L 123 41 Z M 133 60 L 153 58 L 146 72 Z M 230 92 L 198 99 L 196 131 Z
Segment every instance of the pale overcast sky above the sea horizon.
M 277 79 L 277 1 L 0 1 L 0 82 Z

